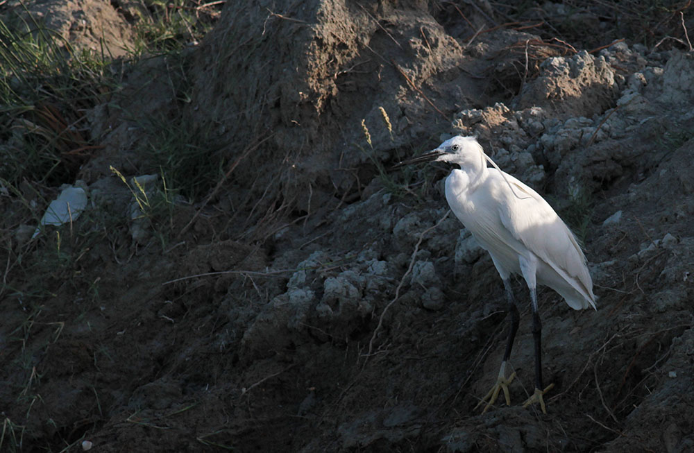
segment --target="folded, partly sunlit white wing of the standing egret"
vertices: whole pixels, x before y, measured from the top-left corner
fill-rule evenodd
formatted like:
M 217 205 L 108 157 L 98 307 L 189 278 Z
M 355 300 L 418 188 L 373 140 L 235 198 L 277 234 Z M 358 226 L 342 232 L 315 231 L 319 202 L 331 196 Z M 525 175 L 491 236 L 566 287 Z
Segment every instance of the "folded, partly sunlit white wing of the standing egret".
M 511 236 L 593 304 L 593 282 L 586 257 L 573 233 L 536 191 L 510 175 L 505 176 L 507 181 L 496 185 L 500 187 L 497 196 L 501 202 L 501 223 Z

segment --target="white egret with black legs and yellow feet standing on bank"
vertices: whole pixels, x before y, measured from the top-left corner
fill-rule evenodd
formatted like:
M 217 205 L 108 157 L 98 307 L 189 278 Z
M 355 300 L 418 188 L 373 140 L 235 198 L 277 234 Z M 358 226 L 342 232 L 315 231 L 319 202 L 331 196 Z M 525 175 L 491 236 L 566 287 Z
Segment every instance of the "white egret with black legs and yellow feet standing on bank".
M 487 402 L 484 411 L 489 409 L 500 390 L 504 391 L 506 404 L 511 404 L 508 384 L 516 373 L 507 377 L 507 362 L 518 330 L 519 316 L 509 277 L 521 274 L 530 289 L 535 344 L 535 391 L 523 407 L 539 402 L 542 411 L 547 413 L 542 397 L 554 384 L 544 389 L 542 386 L 542 325 L 536 284 L 557 291 L 573 309 L 595 309 L 596 298 L 586 257 L 555 210 L 536 191 L 501 171 L 484 154 L 474 137 L 453 137 L 433 151 L 400 162 L 396 167 L 430 161 L 460 166 L 446 178 L 446 200 L 450 210 L 491 255 L 504 282 L 508 301 L 511 322 L 501 369 L 496 384 L 477 407 Z M 486 162 L 494 168 L 487 167 Z

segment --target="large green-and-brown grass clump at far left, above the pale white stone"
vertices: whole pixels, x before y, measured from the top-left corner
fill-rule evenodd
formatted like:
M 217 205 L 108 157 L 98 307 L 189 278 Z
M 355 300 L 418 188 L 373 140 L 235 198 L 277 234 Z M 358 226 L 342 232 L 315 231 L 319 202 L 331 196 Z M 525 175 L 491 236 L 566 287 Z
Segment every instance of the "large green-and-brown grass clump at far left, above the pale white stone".
M 0 178 L 59 185 L 71 182 L 99 148 L 87 139 L 84 110 L 115 87 L 103 55 L 75 52 L 35 22 L 15 31 L 0 22 Z

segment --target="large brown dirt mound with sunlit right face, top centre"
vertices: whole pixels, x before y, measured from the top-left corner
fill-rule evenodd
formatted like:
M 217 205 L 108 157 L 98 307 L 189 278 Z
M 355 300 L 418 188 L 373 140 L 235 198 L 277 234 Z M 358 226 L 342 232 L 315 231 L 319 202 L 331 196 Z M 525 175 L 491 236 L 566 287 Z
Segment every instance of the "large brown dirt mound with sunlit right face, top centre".
M 423 85 L 448 112 L 455 103 L 480 103 L 478 96 L 440 96 L 471 78 L 457 67 L 461 46 L 427 2 L 395 8 L 302 1 L 274 8 L 273 2 L 225 8 L 195 53 L 187 111 L 202 127 L 212 125 L 231 158 L 269 137 L 235 174 L 244 185 L 257 178 L 260 194 L 267 182 L 279 181 L 271 190 L 282 189 L 304 212 L 335 189 L 351 200 L 374 176 L 363 165 L 370 156 L 390 160 L 413 136 L 430 134 L 425 125 L 442 122 L 424 92 L 408 93 Z M 447 83 L 439 85 L 442 72 Z M 375 146 L 367 144 L 362 121 Z M 310 191 L 312 200 L 304 195 Z

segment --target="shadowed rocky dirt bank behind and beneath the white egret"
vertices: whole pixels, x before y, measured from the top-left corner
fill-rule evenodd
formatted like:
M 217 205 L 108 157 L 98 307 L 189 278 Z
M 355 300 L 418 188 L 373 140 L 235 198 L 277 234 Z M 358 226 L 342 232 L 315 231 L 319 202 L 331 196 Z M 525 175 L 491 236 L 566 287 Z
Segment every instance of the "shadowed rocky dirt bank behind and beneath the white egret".
M 134 3 L 63 3 L 24 14 L 121 76 L 70 178 L 2 186 L 0 450 L 694 451 L 688 3 L 228 2 L 137 61 Z M 522 280 L 511 406 L 475 409 L 500 278 L 447 166 L 389 170 L 457 134 L 585 246 L 598 310 L 539 292 L 546 415 Z M 32 237 L 60 183 L 86 209 Z

